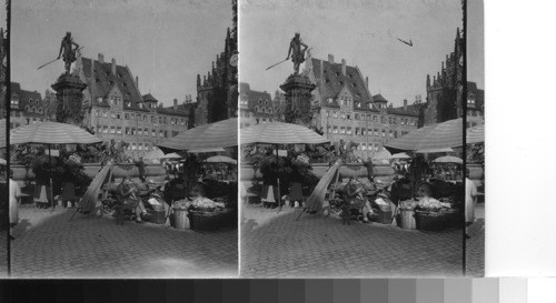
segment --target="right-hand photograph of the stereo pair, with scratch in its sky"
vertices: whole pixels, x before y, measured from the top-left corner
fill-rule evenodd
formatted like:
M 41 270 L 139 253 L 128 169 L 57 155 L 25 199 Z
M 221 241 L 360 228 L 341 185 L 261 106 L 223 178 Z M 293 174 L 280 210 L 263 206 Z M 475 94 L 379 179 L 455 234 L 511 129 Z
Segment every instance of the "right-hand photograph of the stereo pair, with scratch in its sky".
M 483 275 L 465 257 L 484 257 L 484 219 L 465 226 L 465 2 L 239 12 L 241 275 Z

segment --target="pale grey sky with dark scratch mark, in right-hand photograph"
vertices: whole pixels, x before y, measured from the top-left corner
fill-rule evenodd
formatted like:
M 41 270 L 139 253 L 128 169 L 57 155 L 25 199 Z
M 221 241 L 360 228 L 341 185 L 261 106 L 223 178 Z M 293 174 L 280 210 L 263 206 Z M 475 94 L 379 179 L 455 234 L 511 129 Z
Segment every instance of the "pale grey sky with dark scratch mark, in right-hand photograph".
M 347 3 L 347 4 L 346 4 Z M 240 79 L 254 90 L 274 92 L 294 71 L 286 59 L 299 31 L 315 58 L 346 59 L 369 77 L 373 94 L 395 105 L 426 97 L 426 75 L 436 74 L 454 51 L 463 27 L 460 0 L 251 1 L 240 6 Z M 406 46 L 396 38 L 413 41 Z M 469 78 L 470 79 L 470 78 Z M 479 84 L 479 87 L 481 87 Z

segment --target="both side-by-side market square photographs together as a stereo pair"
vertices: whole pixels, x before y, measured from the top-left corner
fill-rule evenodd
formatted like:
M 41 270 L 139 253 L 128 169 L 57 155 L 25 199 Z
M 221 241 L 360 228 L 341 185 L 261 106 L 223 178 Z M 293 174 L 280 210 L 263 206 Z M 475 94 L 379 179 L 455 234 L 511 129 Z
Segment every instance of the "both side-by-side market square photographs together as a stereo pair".
M 481 4 L 8 3 L 3 275 L 483 276 Z

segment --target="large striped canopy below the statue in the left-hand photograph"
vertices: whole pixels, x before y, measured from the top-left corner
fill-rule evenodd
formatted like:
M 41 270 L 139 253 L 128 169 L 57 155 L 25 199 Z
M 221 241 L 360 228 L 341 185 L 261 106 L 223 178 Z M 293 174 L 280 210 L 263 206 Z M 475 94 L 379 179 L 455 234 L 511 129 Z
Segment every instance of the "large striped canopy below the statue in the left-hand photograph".
M 73 124 L 42 122 L 23 125 L 10 131 L 10 144 L 91 144 L 100 138 Z

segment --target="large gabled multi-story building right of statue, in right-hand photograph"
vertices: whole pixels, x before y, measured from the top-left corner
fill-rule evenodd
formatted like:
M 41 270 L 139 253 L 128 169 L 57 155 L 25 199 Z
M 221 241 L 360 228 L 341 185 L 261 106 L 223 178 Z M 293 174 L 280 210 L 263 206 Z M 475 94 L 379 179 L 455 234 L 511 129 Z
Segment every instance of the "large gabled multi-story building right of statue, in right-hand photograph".
M 332 143 L 351 142 L 356 155 L 373 156 L 389 140 L 417 129 L 418 114 L 388 107 L 381 95 L 371 95 L 368 78 L 357 67 L 311 58 L 306 60 L 305 74 L 317 85 L 312 91 L 312 128 Z

